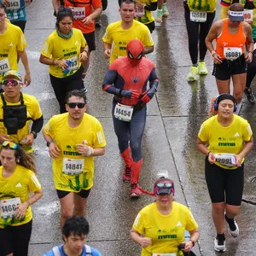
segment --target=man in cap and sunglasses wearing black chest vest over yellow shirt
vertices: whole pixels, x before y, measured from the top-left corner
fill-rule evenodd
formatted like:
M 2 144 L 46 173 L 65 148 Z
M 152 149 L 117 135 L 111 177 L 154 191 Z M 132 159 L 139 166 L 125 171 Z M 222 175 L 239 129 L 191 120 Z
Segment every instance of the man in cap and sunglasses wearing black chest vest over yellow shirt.
M 0 143 L 20 143 L 27 153 L 32 153 L 32 143 L 43 127 L 44 118 L 38 100 L 22 93 L 22 86 L 20 73 L 15 70 L 3 73 L 3 93 L 0 94 Z

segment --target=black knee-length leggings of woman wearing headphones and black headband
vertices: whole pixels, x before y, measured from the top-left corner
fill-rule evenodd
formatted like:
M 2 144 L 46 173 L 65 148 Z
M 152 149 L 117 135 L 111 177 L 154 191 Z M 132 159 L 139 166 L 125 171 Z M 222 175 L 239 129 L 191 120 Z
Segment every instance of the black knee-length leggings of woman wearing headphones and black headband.
M 241 206 L 244 172 L 243 164 L 233 170 L 211 165 L 206 158 L 205 175 L 212 203 L 226 202 Z

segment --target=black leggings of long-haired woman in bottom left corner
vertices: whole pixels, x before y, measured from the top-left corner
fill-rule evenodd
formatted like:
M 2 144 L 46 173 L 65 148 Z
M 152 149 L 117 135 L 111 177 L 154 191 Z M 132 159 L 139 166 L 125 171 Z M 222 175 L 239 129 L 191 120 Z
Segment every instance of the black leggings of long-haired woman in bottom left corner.
M 32 232 L 32 220 L 20 226 L 0 229 L 0 256 L 14 253 L 14 256 L 27 256 Z

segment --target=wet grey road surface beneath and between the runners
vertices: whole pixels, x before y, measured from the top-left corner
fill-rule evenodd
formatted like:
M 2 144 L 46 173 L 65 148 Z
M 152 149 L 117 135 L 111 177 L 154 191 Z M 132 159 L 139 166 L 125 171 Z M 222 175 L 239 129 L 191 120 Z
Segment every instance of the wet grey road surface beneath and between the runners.
M 170 1 L 169 1 L 170 2 Z M 168 172 L 175 181 L 177 201 L 189 205 L 201 230 L 197 255 L 216 255 L 211 203 L 204 178 L 204 156 L 195 148 L 195 138 L 201 122 L 207 119 L 212 96 L 218 94 L 211 74 L 194 83 L 186 81 L 190 59 L 187 33 L 183 19 L 183 1 L 168 3 L 170 16 L 153 33 L 155 50 L 148 57 L 154 61 L 160 78 L 157 96 L 148 104 L 147 125 L 143 137 L 143 170 L 140 185 L 152 189 L 160 172 Z M 32 71 L 32 84 L 24 90 L 36 96 L 44 112 L 45 122 L 58 113 L 58 103 L 49 83 L 48 68 L 39 63 L 40 49 L 54 29 L 55 18 L 50 0 L 34 1 L 27 9 L 27 53 Z M 218 14 L 217 14 L 218 17 Z M 102 35 L 110 22 L 119 20 L 117 1 L 110 0 L 102 15 L 102 28 L 96 30 L 97 50 L 91 55 L 87 75 L 89 113 L 102 122 L 108 142 L 107 153 L 96 158 L 95 186 L 88 202 L 90 222 L 89 244 L 105 256 L 135 256 L 140 248 L 129 239 L 131 224 L 139 210 L 154 199 L 142 195 L 130 200 L 129 185 L 122 183 L 123 163 L 119 157 L 117 140 L 111 118 L 112 96 L 102 92 L 102 80 L 108 69 L 103 58 Z M 212 60 L 207 54 L 207 67 L 212 71 Z M 22 68 L 21 68 L 21 73 Z M 254 84 L 253 84 L 254 86 Z M 253 88 L 254 89 L 254 88 Z M 256 89 L 255 89 L 256 93 Z M 243 100 L 241 116 L 248 119 L 253 132 L 256 128 L 255 105 Z M 43 184 L 44 197 L 33 206 L 33 230 L 29 256 L 38 256 L 61 243 L 59 228 L 60 206 L 52 182 L 51 160 L 44 139 L 39 134 L 35 143 L 39 167 L 38 177 Z M 255 148 L 245 162 L 243 199 L 256 202 Z M 231 238 L 226 227 L 224 255 L 255 255 L 256 207 L 242 203 L 237 217 L 239 238 Z

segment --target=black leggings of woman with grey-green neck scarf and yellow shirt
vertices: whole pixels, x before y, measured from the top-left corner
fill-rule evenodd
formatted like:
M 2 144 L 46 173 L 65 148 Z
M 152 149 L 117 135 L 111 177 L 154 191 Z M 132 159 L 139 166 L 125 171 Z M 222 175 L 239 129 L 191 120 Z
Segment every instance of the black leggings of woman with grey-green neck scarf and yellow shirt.
M 84 68 L 81 65 L 76 73 L 62 79 L 56 78 L 49 74 L 50 83 L 53 87 L 53 90 L 55 91 L 57 101 L 60 104 L 60 113 L 67 112 L 65 107 L 67 92 L 71 90 L 82 90 L 84 88 L 84 82 L 82 80 L 83 70 Z

